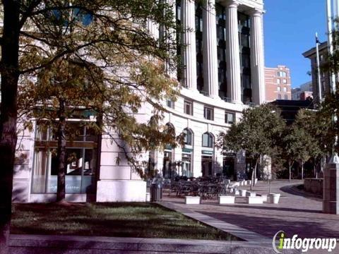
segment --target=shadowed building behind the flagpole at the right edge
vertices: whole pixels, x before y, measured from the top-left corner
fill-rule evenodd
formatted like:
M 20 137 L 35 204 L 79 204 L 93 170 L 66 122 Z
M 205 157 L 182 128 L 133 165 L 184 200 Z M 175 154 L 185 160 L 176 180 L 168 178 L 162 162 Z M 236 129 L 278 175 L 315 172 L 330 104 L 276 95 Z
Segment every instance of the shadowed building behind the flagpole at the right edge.
M 318 71 L 316 65 L 316 47 L 313 47 L 307 52 L 302 54 L 304 57 L 311 61 L 311 75 L 312 75 L 312 92 L 314 97 L 314 103 L 319 104 L 319 83 L 318 83 Z M 319 63 L 323 66 L 327 62 L 328 56 L 328 44 L 323 42 L 319 45 Z M 331 76 L 328 71 L 320 71 L 321 77 L 321 97 L 323 99 L 326 94 L 331 92 Z

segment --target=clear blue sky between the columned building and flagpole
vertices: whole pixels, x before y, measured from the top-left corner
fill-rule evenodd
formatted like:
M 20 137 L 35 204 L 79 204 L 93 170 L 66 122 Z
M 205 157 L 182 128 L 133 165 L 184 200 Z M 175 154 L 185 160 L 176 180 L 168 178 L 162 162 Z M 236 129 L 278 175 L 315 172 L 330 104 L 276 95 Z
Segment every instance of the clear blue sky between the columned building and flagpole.
M 265 65 L 290 68 L 292 87 L 311 80 L 309 59 L 302 56 L 319 41 L 327 40 L 326 0 L 264 0 Z

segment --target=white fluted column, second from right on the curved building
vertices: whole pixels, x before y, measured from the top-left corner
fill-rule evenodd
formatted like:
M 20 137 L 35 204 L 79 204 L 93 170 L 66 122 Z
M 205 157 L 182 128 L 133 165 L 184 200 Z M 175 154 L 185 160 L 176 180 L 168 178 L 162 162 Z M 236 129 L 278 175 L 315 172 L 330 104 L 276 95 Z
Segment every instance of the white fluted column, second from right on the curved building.
M 234 0 L 227 1 L 226 4 L 227 94 L 232 102 L 242 103 L 237 13 L 239 4 Z

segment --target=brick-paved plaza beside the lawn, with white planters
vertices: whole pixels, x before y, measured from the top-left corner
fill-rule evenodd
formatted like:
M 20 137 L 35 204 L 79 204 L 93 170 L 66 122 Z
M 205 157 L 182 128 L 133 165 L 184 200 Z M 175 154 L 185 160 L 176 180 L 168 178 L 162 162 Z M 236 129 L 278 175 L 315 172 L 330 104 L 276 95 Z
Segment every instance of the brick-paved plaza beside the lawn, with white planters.
M 185 205 L 184 198 L 177 198 L 174 194 L 165 194 L 163 200 L 179 210 L 205 214 L 270 239 L 280 230 L 285 231 L 287 236 L 298 234 L 302 238 L 338 238 L 339 216 L 323 214 L 322 200 L 298 191 L 295 186 L 299 184 L 302 181 L 273 181 L 271 192 L 281 193 L 278 205 L 249 205 L 245 203 L 245 198 L 240 197 L 232 205 L 219 205 L 217 200 L 202 200 L 201 205 Z M 242 188 L 249 189 L 249 186 L 240 186 Z M 259 181 L 253 191 L 267 194 L 268 188 L 266 182 Z

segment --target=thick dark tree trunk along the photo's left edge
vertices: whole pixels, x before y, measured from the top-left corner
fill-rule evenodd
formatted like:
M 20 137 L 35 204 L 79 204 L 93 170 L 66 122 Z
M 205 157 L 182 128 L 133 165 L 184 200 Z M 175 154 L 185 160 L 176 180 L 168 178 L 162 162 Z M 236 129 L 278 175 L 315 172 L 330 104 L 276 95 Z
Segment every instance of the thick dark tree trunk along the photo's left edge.
M 4 30 L 1 40 L 1 107 L 0 107 L 0 254 L 7 254 L 13 167 L 16 152 L 19 7 L 20 1 L 4 0 Z

